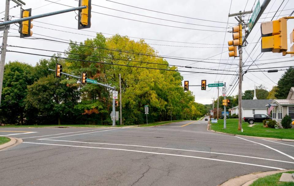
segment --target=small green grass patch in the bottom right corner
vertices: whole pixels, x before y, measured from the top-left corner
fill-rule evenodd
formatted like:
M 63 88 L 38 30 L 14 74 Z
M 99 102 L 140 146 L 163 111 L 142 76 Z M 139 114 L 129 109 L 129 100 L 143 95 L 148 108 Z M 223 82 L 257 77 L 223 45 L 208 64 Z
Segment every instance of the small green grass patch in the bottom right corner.
M 285 173 L 294 173 L 289 171 Z M 273 174 L 270 176 L 262 177 L 255 180 L 250 186 L 294 186 L 294 182 L 280 182 L 282 173 Z

